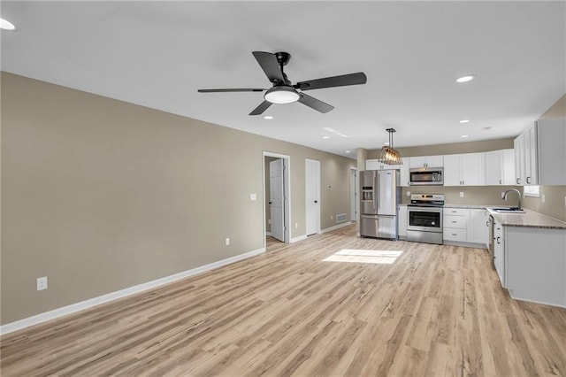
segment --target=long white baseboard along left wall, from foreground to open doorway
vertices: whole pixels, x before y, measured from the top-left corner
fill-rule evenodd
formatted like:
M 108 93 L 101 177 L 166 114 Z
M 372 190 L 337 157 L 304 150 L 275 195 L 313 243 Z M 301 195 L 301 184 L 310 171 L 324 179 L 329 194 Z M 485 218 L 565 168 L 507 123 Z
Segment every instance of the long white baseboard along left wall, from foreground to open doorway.
M 97 296 L 94 298 L 90 298 L 85 301 L 80 301 L 79 303 L 70 304 L 67 306 L 63 306 L 61 308 L 57 308 L 50 312 L 42 312 L 40 314 L 34 315 L 32 317 L 27 317 L 25 319 L 19 319 L 15 322 L 7 323 L 0 327 L 0 335 L 10 334 L 14 331 L 21 330 L 22 328 L 39 325 L 42 322 L 46 322 L 51 319 L 57 319 L 59 317 L 63 317 L 68 314 L 73 314 L 75 312 L 80 312 L 88 308 L 92 308 L 93 306 L 109 303 L 111 301 L 117 300 L 122 297 L 131 296 L 140 292 L 143 292 L 148 289 L 155 289 L 160 287 L 164 284 L 171 283 L 173 281 L 180 281 L 181 279 L 185 279 L 189 276 L 193 276 L 197 273 L 204 273 L 206 271 L 210 271 L 214 268 L 221 267 L 223 265 L 230 265 L 232 263 L 238 262 L 242 259 L 255 257 L 256 255 L 262 254 L 265 252 L 265 248 L 252 250 L 246 252 L 244 254 L 236 255 L 231 258 L 226 258 L 222 260 L 218 260 L 217 262 L 212 262 L 208 265 L 201 265 L 200 267 L 193 268 L 191 270 L 184 271 L 182 273 L 174 273 L 169 276 L 165 276 L 164 278 L 157 279 L 155 281 L 148 281 L 142 284 L 134 285 L 133 287 L 129 287 L 126 289 L 120 289 L 116 292 L 111 292 L 103 296 Z

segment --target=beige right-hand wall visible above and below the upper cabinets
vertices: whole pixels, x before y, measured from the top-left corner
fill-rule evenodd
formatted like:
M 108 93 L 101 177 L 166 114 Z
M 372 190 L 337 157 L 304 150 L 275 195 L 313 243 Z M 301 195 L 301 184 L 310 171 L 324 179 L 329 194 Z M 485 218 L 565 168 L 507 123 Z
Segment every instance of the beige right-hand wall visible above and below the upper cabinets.
M 559 98 L 540 118 L 562 117 L 566 117 L 566 95 Z M 542 195 L 545 196 L 545 203 L 542 203 Z M 566 186 L 540 186 L 540 197 L 525 196 L 524 207 L 566 221 L 564 201 L 566 201 Z

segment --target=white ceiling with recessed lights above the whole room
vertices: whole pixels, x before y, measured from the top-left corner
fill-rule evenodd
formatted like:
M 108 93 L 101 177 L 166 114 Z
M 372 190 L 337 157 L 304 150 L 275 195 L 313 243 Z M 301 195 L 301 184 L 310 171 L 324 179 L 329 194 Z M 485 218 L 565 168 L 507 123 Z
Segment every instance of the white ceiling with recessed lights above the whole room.
M 1 12 L 17 27 L 2 31 L 6 72 L 353 158 L 387 127 L 395 147 L 515 136 L 566 93 L 563 1 L 3 1 Z M 254 50 L 290 52 L 293 82 L 368 81 L 308 92 L 332 112 L 279 104 L 272 120 L 248 115 L 262 93 L 196 92 L 270 88 Z M 466 73 L 478 78 L 455 82 Z

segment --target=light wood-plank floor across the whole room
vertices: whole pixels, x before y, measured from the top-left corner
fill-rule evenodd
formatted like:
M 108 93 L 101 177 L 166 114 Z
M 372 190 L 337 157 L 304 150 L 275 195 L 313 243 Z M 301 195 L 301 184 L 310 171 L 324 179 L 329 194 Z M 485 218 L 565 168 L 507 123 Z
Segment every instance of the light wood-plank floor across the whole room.
M 402 255 L 323 261 L 343 249 Z M 3 376 L 566 376 L 566 309 L 511 300 L 486 250 L 351 226 L 6 335 L 1 350 Z

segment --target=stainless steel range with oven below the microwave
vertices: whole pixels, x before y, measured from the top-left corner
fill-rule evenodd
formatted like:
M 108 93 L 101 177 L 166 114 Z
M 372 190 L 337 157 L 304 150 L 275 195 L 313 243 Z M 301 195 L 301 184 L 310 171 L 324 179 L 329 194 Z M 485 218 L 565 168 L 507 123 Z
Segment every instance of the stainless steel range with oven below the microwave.
M 407 205 L 407 240 L 442 244 L 444 194 L 411 194 Z

